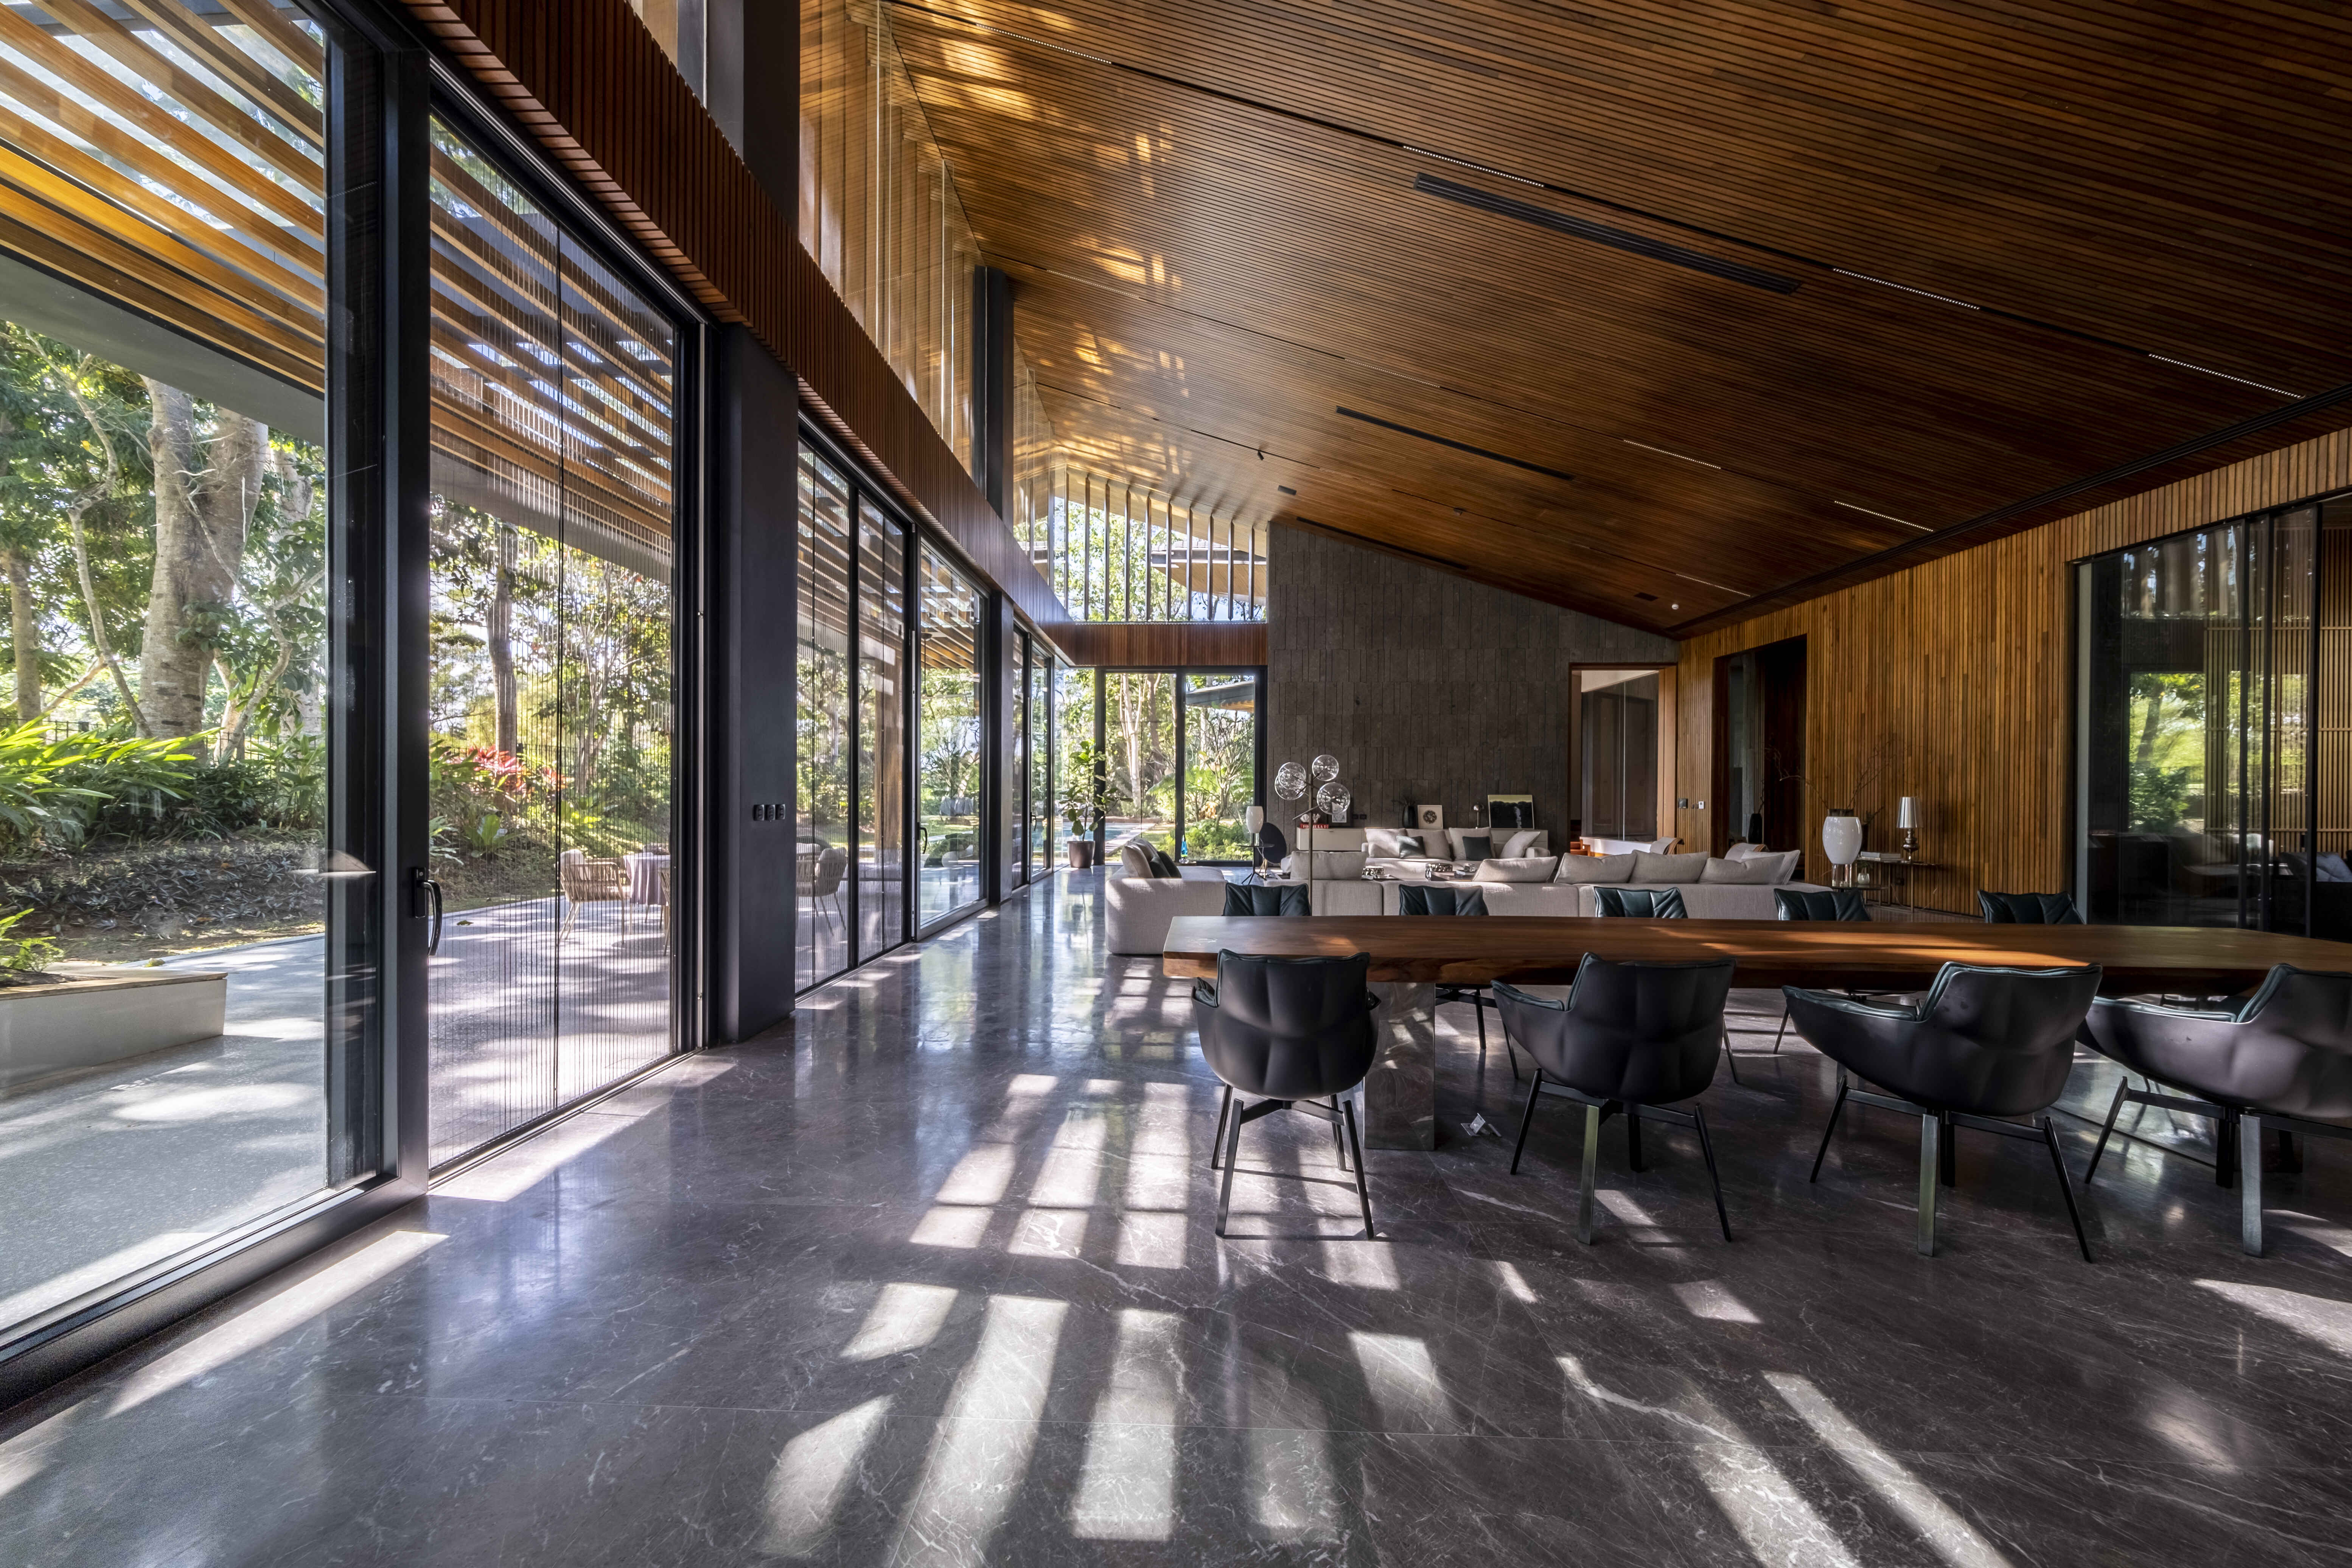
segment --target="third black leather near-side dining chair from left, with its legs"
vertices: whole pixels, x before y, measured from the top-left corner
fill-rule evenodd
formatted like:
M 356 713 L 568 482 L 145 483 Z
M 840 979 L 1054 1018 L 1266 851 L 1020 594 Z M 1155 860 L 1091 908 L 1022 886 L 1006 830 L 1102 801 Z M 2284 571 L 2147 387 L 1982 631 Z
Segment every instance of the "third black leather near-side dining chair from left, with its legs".
M 1820 1133 L 1813 1173 L 1830 1152 L 1846 1100 L 1919 1117 L 1919 1253 L 1936 1255 L 1936 1187 L 1952 1185 L 1957 1128 L 2039 1140 L 2058 1171 L 2067 1218 L 2084 1262 L 2074 1182 L 2058 1150 L 2058 1128 L 2042 1114 L 2074 1070 L 2074 1032 L 2098 997 L 2100 969 L 2006 969 L 1945 964 L 1919 1001 L 1884 1004 L 1837 992 L 1783 987 L 1797 1032 L 1837 1063 L 1837 1103 Z M 1853 1088 L 1877 1084 L 1891 1095 Z M 2009 1117 L 2039 1117 L 2018 1124 Z

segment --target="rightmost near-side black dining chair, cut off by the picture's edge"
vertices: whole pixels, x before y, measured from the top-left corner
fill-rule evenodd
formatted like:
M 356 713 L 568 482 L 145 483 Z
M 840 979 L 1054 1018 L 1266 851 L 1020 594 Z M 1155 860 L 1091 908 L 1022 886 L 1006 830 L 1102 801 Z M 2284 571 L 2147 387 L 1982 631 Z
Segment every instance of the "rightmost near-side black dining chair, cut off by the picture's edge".
M 2084 1034 L 2124 1067 L 2098 1128 L 2091 1168 L 2124 1105 L 2213 1117 L 2213 1178 L 2239 1190 L 2239 1246 L 2263 1255 L 2263 1128 L 2352 1138 L 2352 973 L 2274 966 L 2220 1009 L 2159 1006 L 2126 997 L 2091 1004 Z M 2133 1088 L 2138 1072 L 2150 1088 Z M 2159 1093 L 2154 1086 L 2178 1093 Z

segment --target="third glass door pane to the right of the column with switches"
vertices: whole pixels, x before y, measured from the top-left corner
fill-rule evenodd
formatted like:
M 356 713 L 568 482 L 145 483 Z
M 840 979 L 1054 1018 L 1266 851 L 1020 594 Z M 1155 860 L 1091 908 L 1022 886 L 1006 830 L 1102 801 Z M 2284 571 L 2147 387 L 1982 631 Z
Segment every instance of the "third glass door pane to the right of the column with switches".
M 920 924 L 931 926 L 981 900 L 981 590 L 929 541 L 917 550 L 915 574 L 922 639 L 915 849 Z

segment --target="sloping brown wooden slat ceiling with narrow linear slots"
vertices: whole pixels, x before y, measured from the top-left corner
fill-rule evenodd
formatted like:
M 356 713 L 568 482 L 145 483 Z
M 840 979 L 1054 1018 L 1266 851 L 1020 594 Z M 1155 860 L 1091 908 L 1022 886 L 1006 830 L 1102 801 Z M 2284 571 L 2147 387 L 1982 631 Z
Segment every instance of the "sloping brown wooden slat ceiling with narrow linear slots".
M 2239 421 L 2298 414 L 1994 522 L 2352 423 L 2296 409 L 2352 383 L 2340 12 L 887 16 L 1056 435 L 1178 501 L 1691 630 Z

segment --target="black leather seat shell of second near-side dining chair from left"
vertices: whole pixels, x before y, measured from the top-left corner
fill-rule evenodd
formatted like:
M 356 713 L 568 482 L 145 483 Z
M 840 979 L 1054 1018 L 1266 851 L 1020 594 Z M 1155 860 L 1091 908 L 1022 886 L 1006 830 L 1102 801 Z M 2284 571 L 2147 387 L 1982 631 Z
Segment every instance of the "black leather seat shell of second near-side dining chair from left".
M 1715 1081 L 1731 959 L 1618 964 L 1585 954 L 1566 1001 L 1496 980 L 1510 1032 L 1548 1079 L 1599 1100 L 1670 1105 Z

